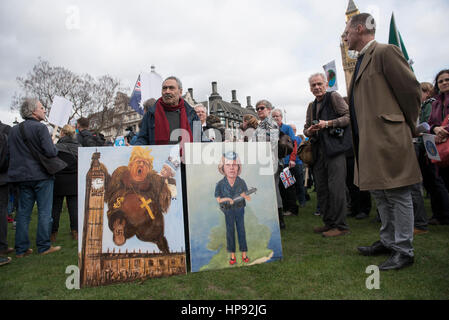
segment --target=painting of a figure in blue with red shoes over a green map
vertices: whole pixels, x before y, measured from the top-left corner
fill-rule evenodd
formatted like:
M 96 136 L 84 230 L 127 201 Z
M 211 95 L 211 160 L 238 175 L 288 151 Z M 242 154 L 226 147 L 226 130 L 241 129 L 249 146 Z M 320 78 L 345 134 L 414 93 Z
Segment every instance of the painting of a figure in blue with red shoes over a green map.
M 192 272 L 282 258 L 271 159 L 269 143 L 186 144 Z

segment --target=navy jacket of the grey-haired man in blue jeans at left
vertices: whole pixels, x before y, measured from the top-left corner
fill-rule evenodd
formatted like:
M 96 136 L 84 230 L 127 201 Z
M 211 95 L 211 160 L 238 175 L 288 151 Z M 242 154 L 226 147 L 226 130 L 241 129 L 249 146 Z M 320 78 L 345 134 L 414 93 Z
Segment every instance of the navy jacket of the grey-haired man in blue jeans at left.
M 24 129 L 28 140 L 36 150 L 49 158 L 57 156 L 58 150 L 44 124 L 35 119 L 26 119 Z M 34 159 L 25 142 L 23 142 L 18 125 L 12 127 L 9 132 L 8 146 L 10 155 L 8 178 L 10 182 L 39 181 L 53 178 L 45 171 L 40 162 Z

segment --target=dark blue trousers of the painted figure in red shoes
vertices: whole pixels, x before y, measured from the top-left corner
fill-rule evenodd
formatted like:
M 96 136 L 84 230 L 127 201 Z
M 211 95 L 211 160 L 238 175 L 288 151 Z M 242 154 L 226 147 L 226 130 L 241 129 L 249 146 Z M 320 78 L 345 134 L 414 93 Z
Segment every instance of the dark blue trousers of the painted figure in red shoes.
M 245 233 L 245 208 L 226 210 L 226 244 L 228 252 L 235 252 L 235 227 L 240 252 L 248 251 Z

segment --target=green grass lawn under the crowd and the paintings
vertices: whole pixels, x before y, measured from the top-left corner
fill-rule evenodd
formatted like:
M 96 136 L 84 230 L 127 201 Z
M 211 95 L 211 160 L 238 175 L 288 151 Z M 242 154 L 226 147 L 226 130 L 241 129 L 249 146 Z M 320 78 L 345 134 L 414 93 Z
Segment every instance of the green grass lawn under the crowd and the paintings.
M 66 268 L 77 265 L 77 242 L 70 238 L 67 209 L 61 216 L 57 245 L 62 250 L 48 256 L 33 253 L 0 267 L 0 300 L 10 299 L 121 299 L 121 300 L 384 300 L 449 299 L 449 226 L 430 226 L 428 234 L 415 237 L 415 264 L 400 271 L 380 273 L 380 289 L 369 290 L 366 268 L 387 257 L 364 257 L 357 246 L 378 240 L 380 224 L 348 218 L 351 233 L 325 239 L 312 228 L 322 225 L 313 215 L 315 194 L 299 216 L 285 217 L 281 232 L 283 259 L 232 270 L 188 273 L 105 287 L 69 290 Z M 430 215 L 429 201 L 426 209 Z M 35 252 L 37 214 L 30 227 Z M 14 230 L 8 227 L 9 245 Z

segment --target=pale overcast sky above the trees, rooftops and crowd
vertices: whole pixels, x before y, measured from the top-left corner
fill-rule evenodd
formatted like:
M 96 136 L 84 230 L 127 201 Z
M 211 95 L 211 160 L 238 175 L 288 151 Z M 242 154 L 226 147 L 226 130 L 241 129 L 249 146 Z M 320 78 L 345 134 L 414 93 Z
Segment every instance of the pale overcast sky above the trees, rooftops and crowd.
M 418 81 L 449 67 L 447 0 L 355 0 L 377 20 L 376 39 L 388 42 L 395 14 Z M 346 95 L 340 41 L 348 0 L 0 1 L 0 118 L 11 124 L 16 77 L 41 57 L 52 66 L 98 77 L 109 74 L 129 88 L 155 65 L 178 76 L 194 98 L 208 98 L 211 82 L 246 106 L 270 100 L 302 131 L 313 96 L 308 76 L 336 60 L 339 93 Z

